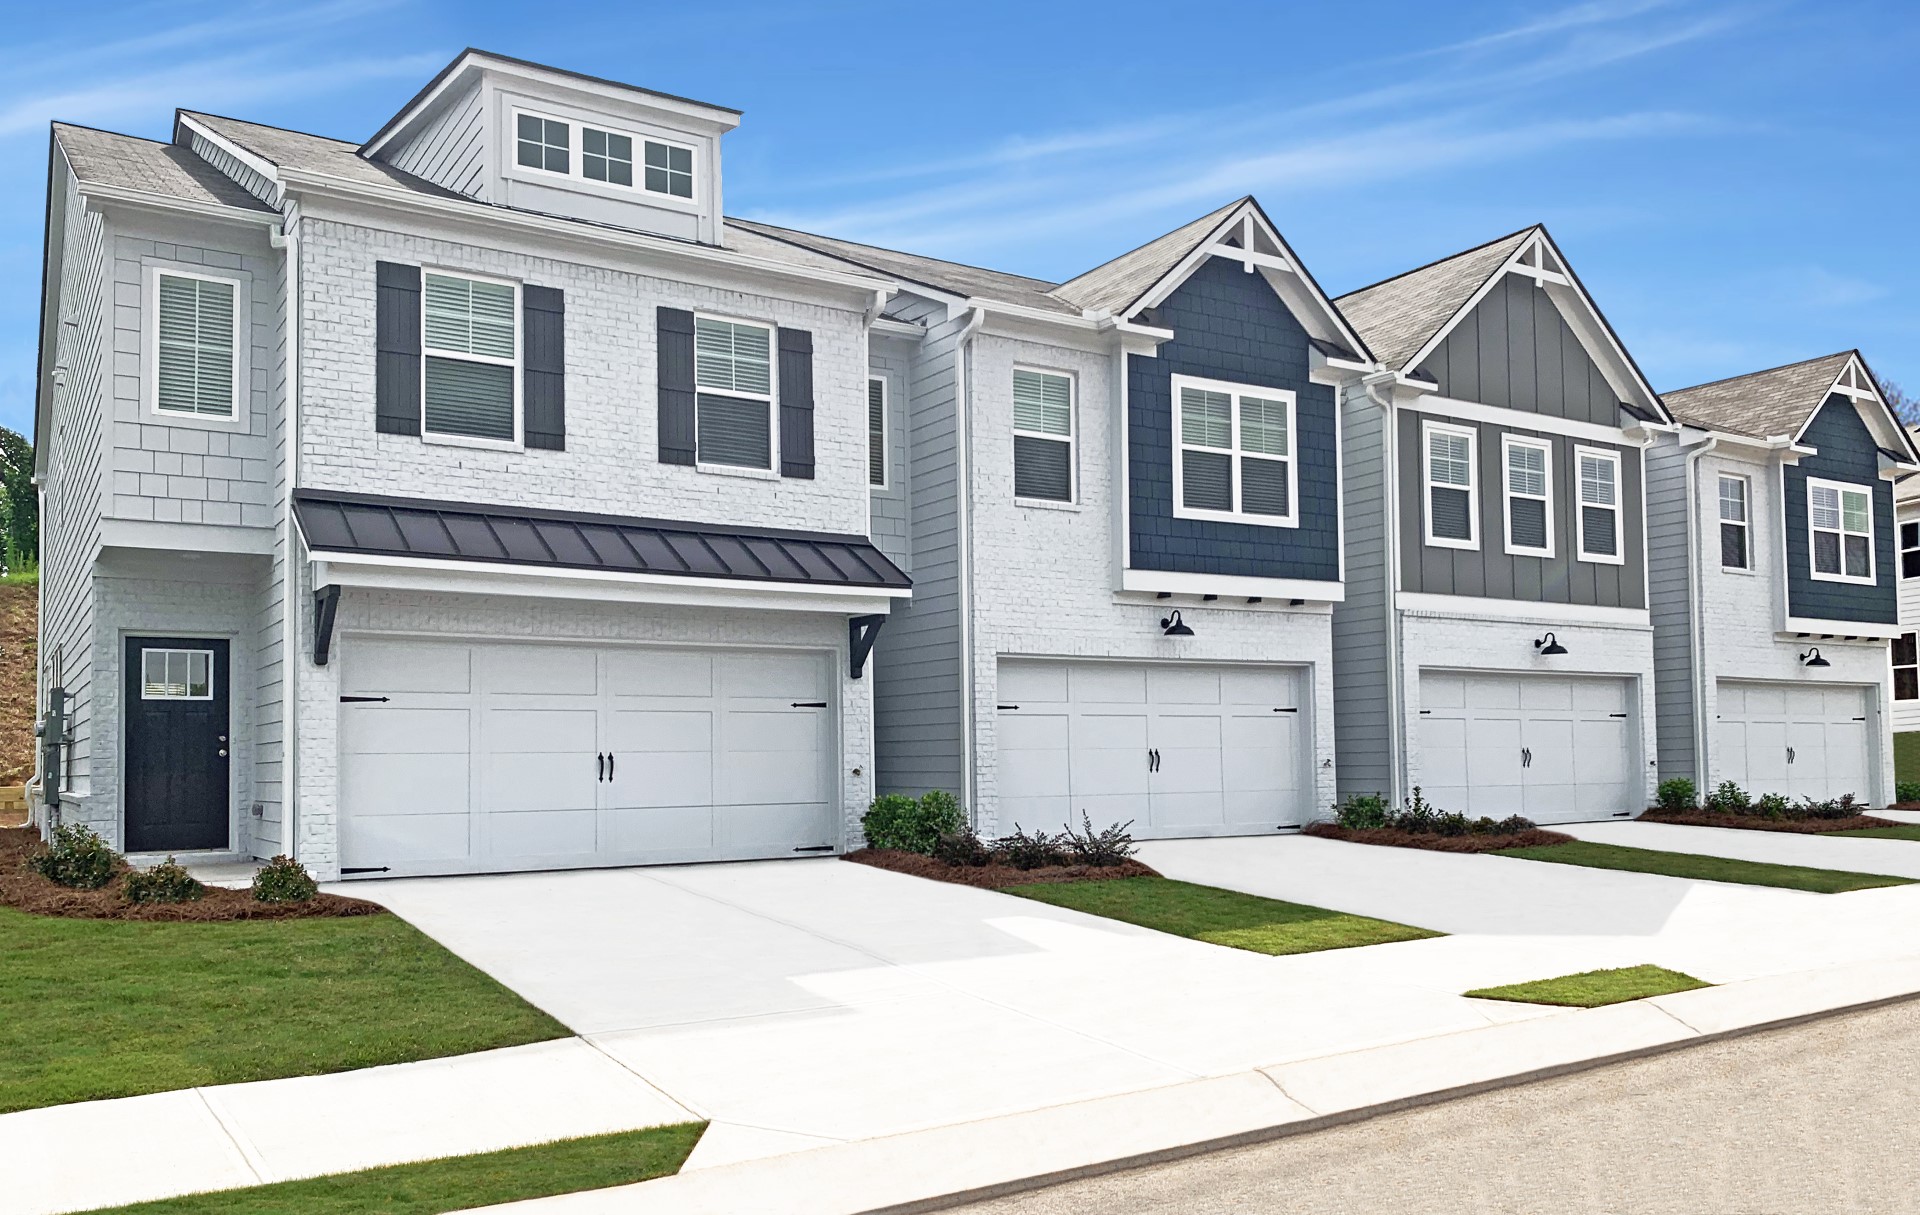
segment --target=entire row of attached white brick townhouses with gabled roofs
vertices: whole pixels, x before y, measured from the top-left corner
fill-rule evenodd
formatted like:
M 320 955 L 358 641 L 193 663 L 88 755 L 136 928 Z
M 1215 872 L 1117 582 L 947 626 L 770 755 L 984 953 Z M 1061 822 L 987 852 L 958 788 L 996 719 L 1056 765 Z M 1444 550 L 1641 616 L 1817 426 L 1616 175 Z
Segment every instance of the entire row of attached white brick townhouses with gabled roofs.
M 737 123 L 465 52 L 365 142 L 56 125 L 63 820 L 351 877 L 1891 800 L 1859 353 L 1659 393 L 1538 226 L 1331 299 L 1252 198 L 1068 282 L 728 219 Z

